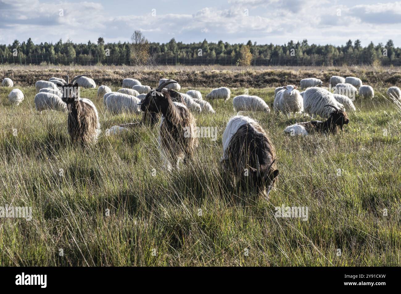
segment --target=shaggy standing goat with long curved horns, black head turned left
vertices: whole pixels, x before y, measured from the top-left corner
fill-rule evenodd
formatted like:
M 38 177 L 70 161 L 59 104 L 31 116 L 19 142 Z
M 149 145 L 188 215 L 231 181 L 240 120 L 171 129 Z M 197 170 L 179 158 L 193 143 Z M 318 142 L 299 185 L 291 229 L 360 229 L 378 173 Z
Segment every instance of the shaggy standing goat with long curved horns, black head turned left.
M 152 89 L 141 104 L 144 112 L 162 113 L 158 143 L 167 170 L 171 170 L 172 165 L 178 168 L 181 160 L 185 163 L 191 159 L 198 146 L 196 121 L 191 112 L 184 104 L 173 102 L 169 92 L 162 92 L 163 88 L 172 83 L 176 81 L 166 80 L 158 88 Z

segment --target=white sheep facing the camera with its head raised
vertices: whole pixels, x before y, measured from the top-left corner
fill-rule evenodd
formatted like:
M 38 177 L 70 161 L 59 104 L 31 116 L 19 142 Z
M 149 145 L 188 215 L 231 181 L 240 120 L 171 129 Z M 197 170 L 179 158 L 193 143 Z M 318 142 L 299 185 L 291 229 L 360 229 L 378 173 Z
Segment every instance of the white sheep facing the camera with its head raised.
M 277 92 L 273 102 L 275 112 L 281 111 L 286 116 L 294 113 L 295 116 L 296 113 L 304 111 L 304 99 L 297 88 L 295 85 L 288 85 Z

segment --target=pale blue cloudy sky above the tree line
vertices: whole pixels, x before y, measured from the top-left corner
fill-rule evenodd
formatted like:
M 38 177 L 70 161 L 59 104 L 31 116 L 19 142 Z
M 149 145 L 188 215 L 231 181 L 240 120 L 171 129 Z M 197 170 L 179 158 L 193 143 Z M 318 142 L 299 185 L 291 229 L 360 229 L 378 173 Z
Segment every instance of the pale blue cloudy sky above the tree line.
M 401 47 L 401 2 L 371 0 L 0 0 L 0 44 L 150 42 L 343 45 L 359 39 Z

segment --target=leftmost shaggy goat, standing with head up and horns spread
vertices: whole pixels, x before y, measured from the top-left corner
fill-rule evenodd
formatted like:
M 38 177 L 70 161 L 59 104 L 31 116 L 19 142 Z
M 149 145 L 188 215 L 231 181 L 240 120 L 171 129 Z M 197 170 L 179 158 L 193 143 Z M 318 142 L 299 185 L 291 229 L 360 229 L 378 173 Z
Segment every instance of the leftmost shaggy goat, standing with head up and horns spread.
M 67 103 L 67 125 L 71 141 L 85 147 L 97 142 L 101 130 L 99 115 L 93 102 L 86 98 L 79 98 L 77 80 L 83 77 L 76 76 L 70 83 L 67 76 L 67 82 L 57 86 L 63 90 L 61 99 Z

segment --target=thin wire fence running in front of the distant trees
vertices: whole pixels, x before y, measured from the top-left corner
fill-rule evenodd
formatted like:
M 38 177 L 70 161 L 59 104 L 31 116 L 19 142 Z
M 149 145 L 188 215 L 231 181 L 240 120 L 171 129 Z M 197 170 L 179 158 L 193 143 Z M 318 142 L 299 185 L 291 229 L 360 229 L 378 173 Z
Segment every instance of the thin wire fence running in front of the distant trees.
M 131 65 L 135 64 L 131 58 L 122 56 L 76 56 L 75 58 L 67 58 L 66 56 L 49 56 L 49 55 L 31 55 L 31 56 L 3 56 L 1 55 L 1 64 L 62 64 L 62 65 Z M 207 58 L 199 56 L 197 58 L 151 58 L 148 64 L 154 65 L 225 65 L 236 66 L 241 62 L 237 58 Z M 297 58 L 253 58 L 251 66 L 343 66 L 343 65 L 382 65 L 382 66 L 401 66 L 401 59 L 393 59 L 383 57 L 372 61 L 371 58 L 331 58 L 331 57 L 307 57 Z

